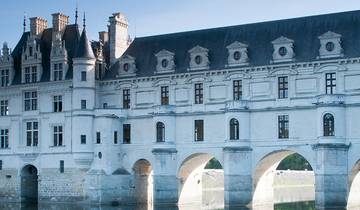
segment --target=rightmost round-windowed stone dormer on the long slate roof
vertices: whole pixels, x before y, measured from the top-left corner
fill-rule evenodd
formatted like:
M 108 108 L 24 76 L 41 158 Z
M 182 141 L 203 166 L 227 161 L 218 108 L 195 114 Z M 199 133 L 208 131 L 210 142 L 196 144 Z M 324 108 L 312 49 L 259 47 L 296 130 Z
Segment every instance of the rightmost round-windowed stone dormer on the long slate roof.
M 341 47 L 341 35 L 328 31 L 319 36 L 320 49 L 318 58 L 343 57 L 343 48 Z

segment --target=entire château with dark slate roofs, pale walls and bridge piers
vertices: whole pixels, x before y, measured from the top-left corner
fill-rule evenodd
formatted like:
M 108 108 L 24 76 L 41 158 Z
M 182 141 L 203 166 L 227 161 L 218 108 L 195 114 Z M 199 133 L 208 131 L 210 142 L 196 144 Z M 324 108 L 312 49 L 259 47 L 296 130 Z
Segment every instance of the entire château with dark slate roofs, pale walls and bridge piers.
M 1 50 L 1 201 L 175 204 L 215 157 L 243 206 L 292 153 L 317 205 L 357 191 L 360 11 L 134 40 L 115 13 L 97 41 L 52 18 Z

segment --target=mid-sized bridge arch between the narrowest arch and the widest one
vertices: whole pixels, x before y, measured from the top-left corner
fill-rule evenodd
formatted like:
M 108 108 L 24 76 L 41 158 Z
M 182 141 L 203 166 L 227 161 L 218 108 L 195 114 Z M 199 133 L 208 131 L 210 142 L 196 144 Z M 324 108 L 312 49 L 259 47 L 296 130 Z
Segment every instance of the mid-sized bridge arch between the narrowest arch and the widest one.
M 221 169 L 205 170 L 205 166 L 212 159 L 220 163 Z M 220 160 L 209 153 L 194 153 L 182 159 L 180 163 L 177 172 L 179 204 L 211 205 L 212 208 L 222 207 L 224 205 L 224 177 Z M 203 181 L 207 183 L 209 180 L 204 180 L 203 177 L 212 177 L 214 180 L 211 181 L 211 184 L 204 184 Z M 203 194 L 203 192 L 207 192 L 204 189 L 207 189 L 208 185 L 212 185 L 214 189 L 217 189 L 215 191 L 215 201 L 207 200 L 207 194 Z

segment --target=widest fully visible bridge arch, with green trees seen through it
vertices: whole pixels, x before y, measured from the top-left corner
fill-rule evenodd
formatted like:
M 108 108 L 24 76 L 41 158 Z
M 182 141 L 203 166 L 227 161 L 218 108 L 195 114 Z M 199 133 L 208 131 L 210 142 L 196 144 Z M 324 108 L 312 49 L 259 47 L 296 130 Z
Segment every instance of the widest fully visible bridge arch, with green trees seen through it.
M 256 165 L 253 169 L 253 206 L 270 207 L 277 200 L 279 200 L 279 202 L 296 202 L 315 199 L 315 174 L 313 171 L 277 171 L 281 161 L 292 154 L 300 155 L 308 162 L 312 169 L 315 169 L 313 167 L 314 160 L 312 156 L 307 155 L 305 152 L 299 150 L 276 150 L 261 156 L 261 158 L 255 162 Z M 289 181 L 290 186 L 295 187 L 291 191 L 300 189 L 296 188 L 295 184 L 304 184 L 306 187 L 302 187 L 302 190 L 306 190 L 306 196 L 294 197 L 291 201 L 280 201 L 282 200 L 282 196 L 275 196 L 277 191 L 274 188 L 274 184 L 276 180 L 279 180 L 276 179 L 276 177 L 281 176 L 286 176 L 283 181 Z M 299 179 L 293 181 L 295 178 Z M 281 191 L 286 192 L 284 189 Z M 302 193 L 298 192 L 296 194 L 301 195 Z

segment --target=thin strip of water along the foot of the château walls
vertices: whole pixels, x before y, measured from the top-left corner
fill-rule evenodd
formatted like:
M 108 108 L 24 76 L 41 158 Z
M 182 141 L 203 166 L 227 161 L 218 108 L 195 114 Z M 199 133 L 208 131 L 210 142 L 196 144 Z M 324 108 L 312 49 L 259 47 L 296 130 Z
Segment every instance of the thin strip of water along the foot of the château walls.
M 0 209 L 6 210 L 224 210 L 212 209 L 209 207 L 199 208 L 198 206 L 161 206 L 161 207 L 148 207 L 148 206 L 98 206 L 98 205 L 79 205 L 79 204 L 33 204 L 33 203 L 1 203 Z M 276 204 L 269 207 L 256 207 L 253 210 L 315 210 L 314 202 L 298 202 Z M 227 207 L 225 210 L 250 210 L 249 208 Z

